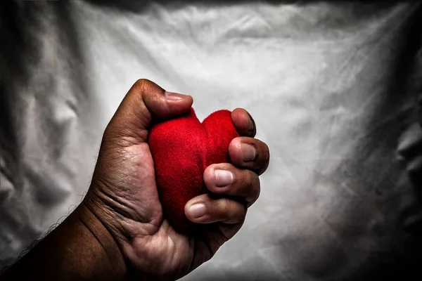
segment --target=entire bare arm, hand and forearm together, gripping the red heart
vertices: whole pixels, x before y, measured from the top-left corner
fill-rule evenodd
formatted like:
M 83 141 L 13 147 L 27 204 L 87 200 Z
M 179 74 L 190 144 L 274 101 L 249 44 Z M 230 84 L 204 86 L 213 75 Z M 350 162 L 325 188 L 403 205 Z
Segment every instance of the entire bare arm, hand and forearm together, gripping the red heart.
M 255 122 L 243 109 L 231 113 L 241 135 L 229 145 L 231 163 L 205 169 L 204 182 L 213 195 L 200 195 L 185 206 L 186 217 L 203 231 L 183 235 L 162 214 L 147 139 L 155 118 L 176 117 L 193 99 L 166 96 L 157 84 L 136 81 L 104 132 L 82 204 L 1 280 L 177 280 L 211 259 L 240 230 L 260 194 L 258 176 L 269 164 L 268 146 L 253 138 Z M 255 148 L 252 160 L 249 144 Z M 220 169 L 234 176 L 223 187 L 215 177 Z M 191 211 L 196 203 L 205 206 L 198 218 Z

